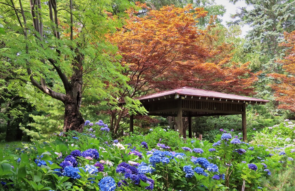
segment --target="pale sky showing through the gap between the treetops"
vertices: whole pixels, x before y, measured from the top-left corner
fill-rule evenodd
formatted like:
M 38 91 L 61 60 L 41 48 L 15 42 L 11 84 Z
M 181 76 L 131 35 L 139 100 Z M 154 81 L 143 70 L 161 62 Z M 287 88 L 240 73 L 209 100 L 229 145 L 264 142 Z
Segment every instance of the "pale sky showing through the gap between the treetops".
M 222 24 L 226 26 L 226 22 L 232 20 L 230 18 L 230 14 L 235 14 L 238 10 L 238 7 L 247 7 L 244 1 L 239 1 L 235 5 L 230 3 L 228 0 L 215 0 L 216 4 L 223 5 L 226 9 L 226 13 L 223 17 L 220 17 L 223 21 Z M 251 7 L 247 8 L 251 9 Z M 250 29 L 248 25 L 245 25 L 241 28 L 242 35 L 241 37 L 244 37 L 247 34 L 247 31 Z

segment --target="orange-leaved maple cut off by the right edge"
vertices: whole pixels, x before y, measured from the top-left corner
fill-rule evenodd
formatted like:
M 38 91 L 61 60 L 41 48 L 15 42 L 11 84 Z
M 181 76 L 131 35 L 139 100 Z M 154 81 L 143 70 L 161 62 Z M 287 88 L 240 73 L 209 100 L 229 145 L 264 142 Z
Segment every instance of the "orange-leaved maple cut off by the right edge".
M 270 74 L 276 79 L 276 83 L 271 84 L 271 87 L 275 90 L 276 100 L 280 102 L 278 108 L 295 112 L 295 31 L 285 33 L 285 39 L 287 42 L 281 46 L 290 49 L 286 52 L 287 56 L 278 61 L 283 65 L 284 71 L 282 74 Z

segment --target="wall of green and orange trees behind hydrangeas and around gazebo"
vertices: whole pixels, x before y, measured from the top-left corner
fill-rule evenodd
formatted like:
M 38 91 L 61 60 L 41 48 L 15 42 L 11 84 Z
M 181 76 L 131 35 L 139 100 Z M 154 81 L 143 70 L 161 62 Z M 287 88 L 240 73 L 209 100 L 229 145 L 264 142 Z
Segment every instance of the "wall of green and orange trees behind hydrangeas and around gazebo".
M 295 119 L 294 1 L 246 0 L 253 9 L 227 26 L 214 0 L 85 2 L 0 3 L 0 140 L 81 132 L 84 119 L 122 136 L 129 115 L 145 113 L 132 98 L 182 86 L 270 100 L 248 105 L 250 129 Z M 136 117 L 135 126 L 168 120 Z M 220 128 L 240 129 L 241 116 L 193 121 L 204 138 Z

